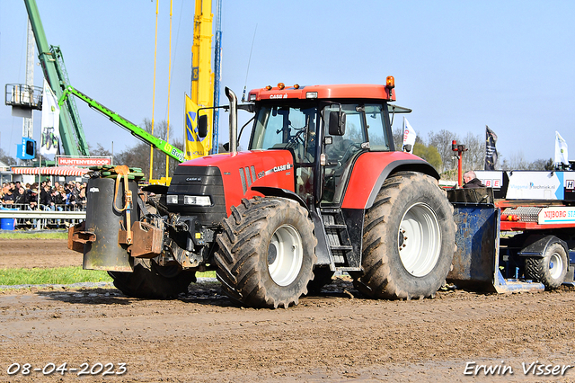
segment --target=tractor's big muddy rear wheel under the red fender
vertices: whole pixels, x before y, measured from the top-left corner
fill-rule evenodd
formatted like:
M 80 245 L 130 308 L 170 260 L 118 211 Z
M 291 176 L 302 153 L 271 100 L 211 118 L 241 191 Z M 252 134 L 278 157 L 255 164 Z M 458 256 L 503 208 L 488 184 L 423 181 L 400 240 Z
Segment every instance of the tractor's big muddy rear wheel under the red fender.
M 433 297 L 453 261 L 455 227 L 453 207 L 435 179 L 394 174 L 367 210 L 356 288 L 373 298 Z

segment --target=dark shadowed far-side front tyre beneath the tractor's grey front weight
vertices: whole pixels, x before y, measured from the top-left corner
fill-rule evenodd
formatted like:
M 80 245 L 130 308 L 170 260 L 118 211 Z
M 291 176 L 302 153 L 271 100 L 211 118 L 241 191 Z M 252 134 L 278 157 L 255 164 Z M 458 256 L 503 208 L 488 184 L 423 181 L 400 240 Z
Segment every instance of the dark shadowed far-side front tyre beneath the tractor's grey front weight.
M 108 272 L 114 286 L 128 297 L 167 299 L 188 291 L 196 281 L 195 271 L 182 271 L 178 265 L 160 266 L 153 260 L 137 259 L 134 272 Z

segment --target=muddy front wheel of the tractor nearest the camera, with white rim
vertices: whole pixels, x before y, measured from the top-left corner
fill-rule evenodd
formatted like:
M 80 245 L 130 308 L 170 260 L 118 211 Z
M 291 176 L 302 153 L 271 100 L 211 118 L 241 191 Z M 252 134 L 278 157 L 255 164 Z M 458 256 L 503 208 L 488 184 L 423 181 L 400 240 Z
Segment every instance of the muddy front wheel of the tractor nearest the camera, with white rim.
M 249 307 L 289 307 L 307 292 L 317 239 L 308 212 L 294 200 L 243 199 L 217 237 L 217 279 Z

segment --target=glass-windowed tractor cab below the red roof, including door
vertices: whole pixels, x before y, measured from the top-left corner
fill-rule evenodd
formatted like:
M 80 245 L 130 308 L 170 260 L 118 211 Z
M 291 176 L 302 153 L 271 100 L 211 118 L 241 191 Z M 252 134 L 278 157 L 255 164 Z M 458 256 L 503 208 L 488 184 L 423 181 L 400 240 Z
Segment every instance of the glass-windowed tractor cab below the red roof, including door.
M 290 151 L 308 207 L 341 206 L 355 160 L 393 151 L 390 116 L 409 111 L 382 100 L 269 98 L 256 102 L 249 149 Z

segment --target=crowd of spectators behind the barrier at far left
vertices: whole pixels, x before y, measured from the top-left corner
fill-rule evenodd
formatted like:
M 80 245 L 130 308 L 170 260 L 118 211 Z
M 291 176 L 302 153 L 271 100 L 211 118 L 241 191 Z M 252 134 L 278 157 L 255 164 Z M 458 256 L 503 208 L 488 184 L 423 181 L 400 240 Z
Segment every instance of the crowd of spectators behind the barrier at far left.
M 20 181 L 2 183 L 0 202 L 4 208 L 77 210 L 84 209 L 86 203 L 86 183 L 64 183 L 42 181 L 26 183 Z

